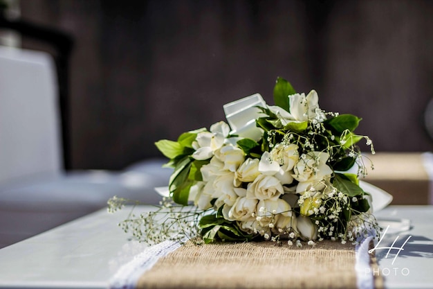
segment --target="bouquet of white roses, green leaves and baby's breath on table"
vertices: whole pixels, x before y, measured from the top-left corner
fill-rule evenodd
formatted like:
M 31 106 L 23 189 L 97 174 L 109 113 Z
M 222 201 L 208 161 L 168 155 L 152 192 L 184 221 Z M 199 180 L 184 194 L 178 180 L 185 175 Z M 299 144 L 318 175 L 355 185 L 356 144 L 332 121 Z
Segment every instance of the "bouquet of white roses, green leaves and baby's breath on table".
M 273 240 L 308 245 L 324 239 L 355 243 L 377 229 L 355 134 L 360 119 L 324 112 L 317 92 L 297 94 L 277 78 L 275 105 L 259 94 L 224 105 L 228 123 L 156 142 L 174 168 L 154 211 L 131 215 L 125 231 L 149 243 L 185 238 Z M 356 173 L 348 173 L 352 167 Z M 161 189 L 159 189 L 161 191 Z M 112 198 L 114 211 L 127 200 Z

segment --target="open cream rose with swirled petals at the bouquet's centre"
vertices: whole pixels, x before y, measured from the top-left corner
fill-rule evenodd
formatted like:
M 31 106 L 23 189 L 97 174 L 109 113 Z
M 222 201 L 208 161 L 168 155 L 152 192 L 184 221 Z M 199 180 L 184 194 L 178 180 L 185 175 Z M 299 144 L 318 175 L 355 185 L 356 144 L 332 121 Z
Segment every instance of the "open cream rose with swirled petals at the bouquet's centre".
M 284 193 L 279 179 L 271 175 L 259 175 L 247 186 L 246 197 L 257 200 L 277 200 Z

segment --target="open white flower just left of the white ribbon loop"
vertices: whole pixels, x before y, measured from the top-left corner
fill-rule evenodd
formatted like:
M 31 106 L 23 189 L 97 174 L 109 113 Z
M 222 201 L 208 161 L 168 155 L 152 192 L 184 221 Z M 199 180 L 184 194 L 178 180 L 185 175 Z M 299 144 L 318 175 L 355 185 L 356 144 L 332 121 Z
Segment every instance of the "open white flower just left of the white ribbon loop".
M 192 157 L 198 160 L 210 159 L 216 150 L 224 144 L 225 138 L 230 133 L 227 123 L 220 121 L 210 127 L 210 132 L 199 132 L 192 147 L 196 150 Z

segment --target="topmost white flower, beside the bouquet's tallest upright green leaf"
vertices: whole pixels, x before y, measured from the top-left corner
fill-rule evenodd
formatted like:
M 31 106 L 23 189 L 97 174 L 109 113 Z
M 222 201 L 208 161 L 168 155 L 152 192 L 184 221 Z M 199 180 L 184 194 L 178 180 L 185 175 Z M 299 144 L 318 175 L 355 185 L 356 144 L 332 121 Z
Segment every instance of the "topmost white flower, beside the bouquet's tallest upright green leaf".
M 317 121 L 324 121 L 326 116 L 320 110 L 319 107 L 319 96 L 313 89 L 310 93 L 305 94 L 293 94 L 288 96 L 291 116 L 296 121 L 308 121 L 316 119 Z

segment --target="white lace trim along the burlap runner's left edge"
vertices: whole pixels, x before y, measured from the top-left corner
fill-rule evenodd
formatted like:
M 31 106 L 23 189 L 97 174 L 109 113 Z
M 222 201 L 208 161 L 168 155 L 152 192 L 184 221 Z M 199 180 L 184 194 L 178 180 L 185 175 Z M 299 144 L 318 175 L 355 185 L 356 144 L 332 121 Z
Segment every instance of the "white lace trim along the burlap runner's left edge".
M 173 252 L 181 243 L 177 241 L 166 240 L 150 247 L 147 247 L 143 252 L 136 255 L 134 259 L 122 265 L 119 270 L 109 281 L 110 289 L 133 289 L 136 288 L 138 278 L 153 265 L 161 257 Z

